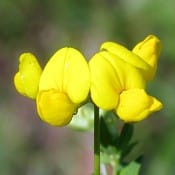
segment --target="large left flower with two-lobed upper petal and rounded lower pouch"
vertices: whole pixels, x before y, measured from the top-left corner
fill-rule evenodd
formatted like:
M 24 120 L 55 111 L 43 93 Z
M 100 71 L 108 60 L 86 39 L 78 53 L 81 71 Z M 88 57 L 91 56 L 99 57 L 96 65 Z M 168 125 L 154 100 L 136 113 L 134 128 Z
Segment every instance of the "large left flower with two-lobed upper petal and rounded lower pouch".
M 63 126 L 86 100 L 90 87 L 88 64 L 73 48 L 56 52 L 45 66 L 39 82 L 37 110 L 42 120 Z

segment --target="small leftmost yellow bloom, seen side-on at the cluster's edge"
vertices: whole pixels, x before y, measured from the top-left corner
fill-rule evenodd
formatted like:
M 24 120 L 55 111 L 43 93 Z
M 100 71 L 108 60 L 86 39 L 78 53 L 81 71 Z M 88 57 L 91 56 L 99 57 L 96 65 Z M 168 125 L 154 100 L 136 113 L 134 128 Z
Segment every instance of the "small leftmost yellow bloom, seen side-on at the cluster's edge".
M 31 53 L 22 54 L 19 62 L 19 72 L 14 77 L 15 87 L 20 94 L 35 99 L 42 73 L 41 67 Z

